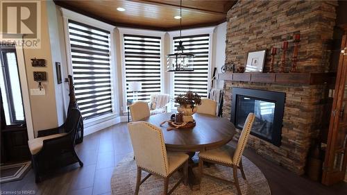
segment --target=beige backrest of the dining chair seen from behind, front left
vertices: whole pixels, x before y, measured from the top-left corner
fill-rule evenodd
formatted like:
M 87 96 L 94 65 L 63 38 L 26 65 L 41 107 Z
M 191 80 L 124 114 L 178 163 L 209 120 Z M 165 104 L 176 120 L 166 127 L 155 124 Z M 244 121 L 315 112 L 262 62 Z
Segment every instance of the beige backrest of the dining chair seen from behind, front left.
M 137 166 L 166 177 L 169 163 L 162 130 L 145 121 L 130 122 L 128 129 Z

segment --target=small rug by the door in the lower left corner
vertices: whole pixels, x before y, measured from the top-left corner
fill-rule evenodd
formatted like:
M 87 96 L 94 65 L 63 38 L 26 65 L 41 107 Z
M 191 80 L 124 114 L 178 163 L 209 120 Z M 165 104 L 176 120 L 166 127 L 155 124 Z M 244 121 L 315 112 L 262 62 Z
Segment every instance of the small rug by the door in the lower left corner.
M 8 183 L 15 180 L 22 180 L 30 170 L 31 162 L 20 162 L 0 166 L 0 183 Z

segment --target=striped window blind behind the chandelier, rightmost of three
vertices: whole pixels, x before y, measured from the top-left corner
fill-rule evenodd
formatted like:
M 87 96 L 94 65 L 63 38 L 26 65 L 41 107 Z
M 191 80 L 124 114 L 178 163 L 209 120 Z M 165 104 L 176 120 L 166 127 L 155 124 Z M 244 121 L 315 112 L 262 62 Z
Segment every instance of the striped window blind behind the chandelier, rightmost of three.
M 208 57 L 210 35 L 191 35 L 174 37 L 174 51 L 177 51 L 178 42 L 182 40 L 185 53 L 193 53 L 194 71 L 174 73 L 174 96 L 183 94 L 188 90 L 198 93 L 202 97 L 208 96 Z

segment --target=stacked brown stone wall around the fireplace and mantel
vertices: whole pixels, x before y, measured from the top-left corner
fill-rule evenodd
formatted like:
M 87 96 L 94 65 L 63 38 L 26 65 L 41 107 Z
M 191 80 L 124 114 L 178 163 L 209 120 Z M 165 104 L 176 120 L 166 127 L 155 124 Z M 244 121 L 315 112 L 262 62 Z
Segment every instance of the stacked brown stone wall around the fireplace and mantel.
M 329 70 L 329 42 L 335 26 L 337 1 L 238 1 L 228 11 L 226 63 L 244 66 L 248 51 L 267 49 L 264 71 L 269 70 L 271 46 L 289 41 L 287 70 L 293 51 L 293 35 L 301 34 L 298 71 Z M 280 62 L 280 55 L 276 56 Z M 278 66 L 275 67 L 278 71 Z M 230 119 L 232 87 L 247 87 L 286 93 L 282 145 L 251 136 L 248 146 L 295 173 L 304 173 L 307 152 L 321 130 L 328 92 L 324 85 L 277 85 L 270 83 L 224 83 L 223 116 Z

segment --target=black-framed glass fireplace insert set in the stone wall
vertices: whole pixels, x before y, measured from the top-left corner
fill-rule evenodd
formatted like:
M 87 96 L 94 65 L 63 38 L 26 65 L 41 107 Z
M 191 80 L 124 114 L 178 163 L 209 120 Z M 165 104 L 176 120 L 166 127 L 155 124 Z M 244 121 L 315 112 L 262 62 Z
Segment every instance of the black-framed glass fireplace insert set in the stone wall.
M 255 114 L 251 134 L 280 146 L 285 93 L 232 87 L 230 121 L 242 129 L 248 113 Z

